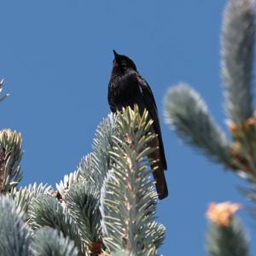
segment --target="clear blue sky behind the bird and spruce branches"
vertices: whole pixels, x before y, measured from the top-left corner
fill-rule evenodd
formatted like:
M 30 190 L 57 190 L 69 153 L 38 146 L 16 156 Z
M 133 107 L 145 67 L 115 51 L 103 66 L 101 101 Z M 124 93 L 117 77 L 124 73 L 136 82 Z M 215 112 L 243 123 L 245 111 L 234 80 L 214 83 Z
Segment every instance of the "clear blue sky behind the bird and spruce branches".
M 160 110 L 170 193 L 158 211 L 167 230 L 161 253 L 206 255 L 208 202 L 247 205 L 236 189 L 246 183 L 183 145 L 163 122 L 162 102 L 168 87 L 185 81 L 226 130 L 219 74 L 224 3 L 1 1 L 0 78 L 11 93 L 0 106 L 1 128 L 23 135 L 22 185 L 55 185 L 90 152 L 96 126 L 109 112 L 108 79 L 116 49 L 137 63 Z M 246 211 L 239 215 L 255 239 L 253 220 Z

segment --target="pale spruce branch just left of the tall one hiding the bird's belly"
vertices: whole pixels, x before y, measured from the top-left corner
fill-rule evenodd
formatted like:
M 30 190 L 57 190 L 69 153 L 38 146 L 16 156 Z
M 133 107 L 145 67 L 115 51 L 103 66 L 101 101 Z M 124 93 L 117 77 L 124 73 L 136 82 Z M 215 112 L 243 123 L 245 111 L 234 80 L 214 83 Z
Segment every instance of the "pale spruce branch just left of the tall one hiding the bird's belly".
M 112 161 L 109 155 L 112 136 L 119 137 L 117 119 L 113 113 L 103 119 L 96 129 L 92 153 L 84 156 L 75 172 L 56 184 L 55 197 L 67 207 L 73 222 L 79 226 L 84 250 L 91 255 L 100 253 L 103 246 L 99 191 Z

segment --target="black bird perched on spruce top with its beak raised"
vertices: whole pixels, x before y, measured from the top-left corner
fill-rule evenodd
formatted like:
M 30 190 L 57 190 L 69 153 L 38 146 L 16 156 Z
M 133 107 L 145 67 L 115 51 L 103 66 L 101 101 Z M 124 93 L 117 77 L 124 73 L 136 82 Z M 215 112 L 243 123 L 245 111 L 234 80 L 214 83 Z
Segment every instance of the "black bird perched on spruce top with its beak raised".
M 137 104 L 141 113 L 143 113 L 144 108 L 148 110 L 149 118 L 154 121 L 154 132 L 158 134 L 158 137 L 149 146 L 159 147 L 149 157 L 153 160 L 159 160 L 151 167 L 158 167 L 153 172 L 153 176 L 156 181 L 158 197 L 164 199 L 168 195 L 164 173 L 167 165 L 154 95 L 146 80 L 137 72 L 134 62 L 125 55 L 117 54 L 115 50 L 113 50 L 113 54 L 113 70 L 108 84 L 109 107 L 112 112 L 116 112 L 127 106 L 134 108 L 134 105 Z

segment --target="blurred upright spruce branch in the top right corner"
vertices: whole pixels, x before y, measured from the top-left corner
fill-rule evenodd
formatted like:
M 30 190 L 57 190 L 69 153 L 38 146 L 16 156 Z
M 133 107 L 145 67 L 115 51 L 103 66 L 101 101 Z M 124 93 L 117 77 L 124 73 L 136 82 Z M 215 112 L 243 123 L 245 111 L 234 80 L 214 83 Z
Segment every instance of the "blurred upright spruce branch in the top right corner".
M 222 73 L 224 106 L 236 142 L 234 158 L 256 182 L 256 118 L 253 116 L 253 0 L 230 0 L 224 11 Z

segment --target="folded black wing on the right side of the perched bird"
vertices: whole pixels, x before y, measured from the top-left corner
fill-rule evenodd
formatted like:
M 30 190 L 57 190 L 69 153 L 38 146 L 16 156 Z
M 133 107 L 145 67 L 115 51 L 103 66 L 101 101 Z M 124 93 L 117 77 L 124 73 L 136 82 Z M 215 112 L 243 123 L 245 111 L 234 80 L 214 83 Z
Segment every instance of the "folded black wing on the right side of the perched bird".
M 137 76 L 137 79 L 138 79 L 138 84 L 140 86 L 141 93 L 143 95 L 143 101 L 145 102 L 146 108 L 148 109 L 148 113 L 150 114 L 151 119 L 153 119 L 154 121 L 154 124 L 153 124 L 154 130 L 159 137 L 161 161 L 164 169 L 166 170 L 167 164 L 166 164 L 164 143 L 162 141 L 160 123 L 158 119 L 156 103 L 154 101 L 154 95 L 148 83 L 141 76 Z

